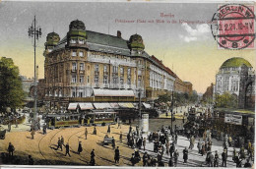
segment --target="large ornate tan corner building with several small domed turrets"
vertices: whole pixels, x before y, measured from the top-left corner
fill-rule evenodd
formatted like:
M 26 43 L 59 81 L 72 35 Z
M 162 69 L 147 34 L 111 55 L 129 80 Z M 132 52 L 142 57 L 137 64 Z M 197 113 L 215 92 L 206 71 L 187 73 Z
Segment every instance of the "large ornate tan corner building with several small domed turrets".
M 51 106 L 69 102 L 145 101 L 174 88 L 175 75 L 145 50 L 143 38 L 129 40 L 69 25 L 60 40 L 48 33 L 44 50 L 44 93 Z

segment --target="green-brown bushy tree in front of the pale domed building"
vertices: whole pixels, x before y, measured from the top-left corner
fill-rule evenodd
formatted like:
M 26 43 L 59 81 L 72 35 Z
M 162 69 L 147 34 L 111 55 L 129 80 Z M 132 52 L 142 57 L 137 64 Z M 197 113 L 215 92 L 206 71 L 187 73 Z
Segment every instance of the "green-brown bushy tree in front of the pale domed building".
M 224 92 L 224 94 L 218 94 L 216 96 L 216 107 L 222 108 L 237 108 L 238 99 L 235 94 L 230 94 L 229 92 Z

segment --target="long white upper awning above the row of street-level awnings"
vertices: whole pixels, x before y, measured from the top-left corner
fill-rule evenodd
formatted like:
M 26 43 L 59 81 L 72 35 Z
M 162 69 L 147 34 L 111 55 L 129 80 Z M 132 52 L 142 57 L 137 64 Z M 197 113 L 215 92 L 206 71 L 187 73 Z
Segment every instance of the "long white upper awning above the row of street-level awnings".
M 123 97 L 134 97 L 133 90 L 128 89 L 98 89 L 94 88 L 95 96 L 123 96 Z

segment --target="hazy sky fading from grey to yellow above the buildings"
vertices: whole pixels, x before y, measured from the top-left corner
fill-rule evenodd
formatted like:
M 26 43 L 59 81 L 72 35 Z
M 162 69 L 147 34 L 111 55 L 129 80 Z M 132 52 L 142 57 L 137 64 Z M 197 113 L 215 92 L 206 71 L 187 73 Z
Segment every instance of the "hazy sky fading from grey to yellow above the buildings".
M 36 47 L 36 64 L 39 78 L 43 78 L 47 33 L 55 31 L 63 38 L 69 24 L 78 19 L 89 30 L 112 35 L 120 30 L 124 39 L 135 33 L 142 35 L 146 52 L 162 60 L 182 81 L 191 82 L 193 89 L 204 93 L 211 83 L 215 83 L 219 68 L 228 58 L 243 57 L 255 68 L 254 49 L 218 47 L 209 22 L 219 5 L 0 1 L 0 57 L 13 58 L 21 75 L 33 77 L 33 47 L 28 30 L 35 15 L 42 29 Z M 167 17 L 161 17 L 161 13 Z M 120 23 L 120 20 L 134 23 Z M 157 20 L 164 23 L 157 23 Z

